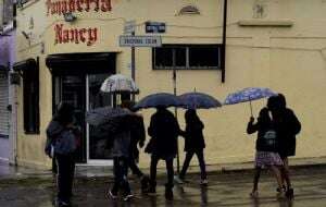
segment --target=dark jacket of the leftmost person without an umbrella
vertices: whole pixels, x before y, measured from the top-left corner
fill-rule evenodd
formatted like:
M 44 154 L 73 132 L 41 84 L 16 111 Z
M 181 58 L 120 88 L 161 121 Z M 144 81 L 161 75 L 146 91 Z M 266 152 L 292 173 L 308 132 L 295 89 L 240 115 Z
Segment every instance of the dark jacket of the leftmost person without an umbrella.
M 77 137 L 73 129 L 68 129 L 52 120 L 47 127 L 47 143 L 45 151 L 50 155 L 51 146 L 54 153 L 60 155 L 71 155 L 77 148 Z

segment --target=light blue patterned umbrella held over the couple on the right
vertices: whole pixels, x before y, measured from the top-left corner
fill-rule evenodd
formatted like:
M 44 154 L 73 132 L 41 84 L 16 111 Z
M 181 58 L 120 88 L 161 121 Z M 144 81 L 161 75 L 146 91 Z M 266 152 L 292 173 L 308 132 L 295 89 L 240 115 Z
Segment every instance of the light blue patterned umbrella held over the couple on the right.
M 224 105 L 235 105 L 238 102 L 250 102 L 250 112 L 252 115 L 251 100 L 276 96 L 277 94 L 269 88 L 264 87 L 248 87 L 239 92 L 229 94 L 224 100 Z

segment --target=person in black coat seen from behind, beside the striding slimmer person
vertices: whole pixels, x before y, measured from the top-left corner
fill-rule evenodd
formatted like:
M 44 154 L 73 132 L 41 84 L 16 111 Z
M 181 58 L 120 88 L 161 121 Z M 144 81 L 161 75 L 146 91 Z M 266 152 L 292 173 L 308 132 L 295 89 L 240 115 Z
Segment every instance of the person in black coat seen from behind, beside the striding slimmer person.
M 166 163 L 167 183 L 165 184 L 165 198 L 173 199 L 173 160 L 177 154 L 177 136 L 180 133 L 176 118 L 166 107 L 158 106 L 156 112 L 151 117 L 148 134 L 151 136 L 146 153 L 151 154 L 150 187 L 148 193 L 155 193 L 156 166 L 160 159 Z

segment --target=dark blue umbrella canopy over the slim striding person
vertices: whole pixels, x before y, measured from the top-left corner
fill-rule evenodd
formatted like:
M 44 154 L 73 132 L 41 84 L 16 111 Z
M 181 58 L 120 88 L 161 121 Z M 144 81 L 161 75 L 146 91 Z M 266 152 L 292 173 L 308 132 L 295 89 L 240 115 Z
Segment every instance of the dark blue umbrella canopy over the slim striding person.
M 183 107 L 186 109 L 210 109 L 222 107 L 222 104 L 217 99 L 203 93 L 186 93 L 178 97 L 181 99 L 185 105 Z

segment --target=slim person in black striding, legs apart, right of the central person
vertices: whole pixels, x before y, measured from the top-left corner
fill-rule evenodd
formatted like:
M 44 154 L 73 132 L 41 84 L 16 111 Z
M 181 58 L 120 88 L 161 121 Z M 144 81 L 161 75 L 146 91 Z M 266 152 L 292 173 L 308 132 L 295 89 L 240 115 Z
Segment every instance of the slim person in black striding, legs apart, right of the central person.
M 185 120 L 186 120 L 186 131 L 181 133 L 181 135 L 185 137 L 185 151 L 186 151 L 186 158 L 185 162 L 181 169 L 181 172 L 178 176 L 175 176 L 174 180 L 178 184 L 184 183 L 184 179 L 187 172 L 187 169 L 189 167 L 189 163 L 193 157 L 193 155 L 197 155 L 199 166 L 200 166 L 200 172 L 201 172 L 201 180 L 200 184 L 206 185 L 208 184 L 208 178 L 206 178 L 206 169 L 205 169 L 205 161 L 203 156 L 203 149 L 205 148 L 205 142 L 202 134 L 202 130 L 204 127 L 202 121 L 197 115 L 196 110 L 188 109 L 185 113 Z

